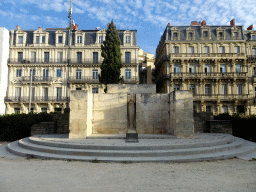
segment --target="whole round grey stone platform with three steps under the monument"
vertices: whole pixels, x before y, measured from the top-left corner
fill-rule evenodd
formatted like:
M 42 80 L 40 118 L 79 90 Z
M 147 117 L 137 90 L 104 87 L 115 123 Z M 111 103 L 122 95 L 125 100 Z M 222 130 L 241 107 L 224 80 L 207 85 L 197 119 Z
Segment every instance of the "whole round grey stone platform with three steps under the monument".
M 256 151 L 256 144 L 229 134 L 198 133 L 192 139 L 172 135 L 139 134 L 138 143 L 126 135 L 93 135 L 68 139 L 68 135 L 36 135 L 8 144 L 19 156 L 104 162 L 186 162 L 234 158 Z

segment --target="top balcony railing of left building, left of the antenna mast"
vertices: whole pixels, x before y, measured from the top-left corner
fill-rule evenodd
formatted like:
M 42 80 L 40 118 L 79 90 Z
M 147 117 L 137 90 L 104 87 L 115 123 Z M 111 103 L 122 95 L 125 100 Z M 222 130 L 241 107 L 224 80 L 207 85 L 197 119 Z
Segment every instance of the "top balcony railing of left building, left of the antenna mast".
M 8 59 L 8 64 L 67 64 L 68 59 Z

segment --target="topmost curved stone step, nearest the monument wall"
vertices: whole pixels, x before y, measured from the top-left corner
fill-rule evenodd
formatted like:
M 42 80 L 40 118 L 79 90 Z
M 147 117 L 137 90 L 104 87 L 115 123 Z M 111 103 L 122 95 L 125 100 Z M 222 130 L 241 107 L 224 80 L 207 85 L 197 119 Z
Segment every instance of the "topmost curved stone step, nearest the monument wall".
M 182 142 L 182 140 L 176 140 L 177 142 L 170 143 L 167 140 L 162 139 L 140 139 L 139 143 L 126 144 L 125 140 L 119 140 L 117 144 L 113 145 L 113 142 L 102 143 L 100 139 L 86 139 L 82 140 L 83 144 L 76 144 L 72 142 L 54 142 L 47 139 L 41 139 L 39 137 L 29 137 L 28 142 L 59 148 L 71 148 L 71 149 L 91 149 L 91 150 L 171 150 L 171 149 L 190 149 L 190 148 L 200 148 L 200 147 L 210 147 L 217 145 L 225 145 L 235 141 L 235 137 L 224 137 L 223 139 L 213 140 L 213 141 L 201 141 L 198 143 Z M 113 140 L 109 140 L 113 141 Z M 123 141 L 122 145 L 120 141 Z

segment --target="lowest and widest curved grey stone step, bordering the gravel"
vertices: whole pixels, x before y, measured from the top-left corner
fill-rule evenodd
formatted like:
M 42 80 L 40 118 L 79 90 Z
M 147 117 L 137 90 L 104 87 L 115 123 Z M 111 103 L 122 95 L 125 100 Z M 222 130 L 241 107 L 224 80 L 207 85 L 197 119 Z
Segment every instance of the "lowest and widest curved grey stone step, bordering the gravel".
M 238 139 L 241 140 L 241 139 Z M 63 155 L 53 153 L 43 153 L 38 151 L 31 151 L 21 148 L 18 141 L 8 144 L 8 150 L 16 155 L 24 157 L 35 157 L 42 159 L 60 159 L 60 160 L 81 160 L 81 161 L 103 161 L 103 162 L 189 162 L 189 161 L 203 161 L 203 160 L 218 160 L 228 159 L 237 156 L 243 156 L 256 151 L 256 147 L 252 145 L 244 145 L 240 148 L 229 151 L 197 154 L 197 155 L 182 155 L 182 156 L 157 156 L 157 157 L 99 157 L 99 156 L 77 156 L 77 155 Z

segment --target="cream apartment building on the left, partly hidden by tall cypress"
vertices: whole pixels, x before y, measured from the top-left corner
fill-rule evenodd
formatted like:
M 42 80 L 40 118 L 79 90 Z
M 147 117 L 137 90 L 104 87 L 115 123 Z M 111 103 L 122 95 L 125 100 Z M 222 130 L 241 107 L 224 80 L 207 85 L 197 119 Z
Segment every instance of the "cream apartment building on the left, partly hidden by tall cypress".
M 106 30 L 39 28 L 10 32 L 7 114 L 63 111 L 71 90 L 103 92 L 99 83 Z M 124 83 L 139 83 L 136 30 L 120 30 Z M 31 108 L 29 110 L 29 104 Z

